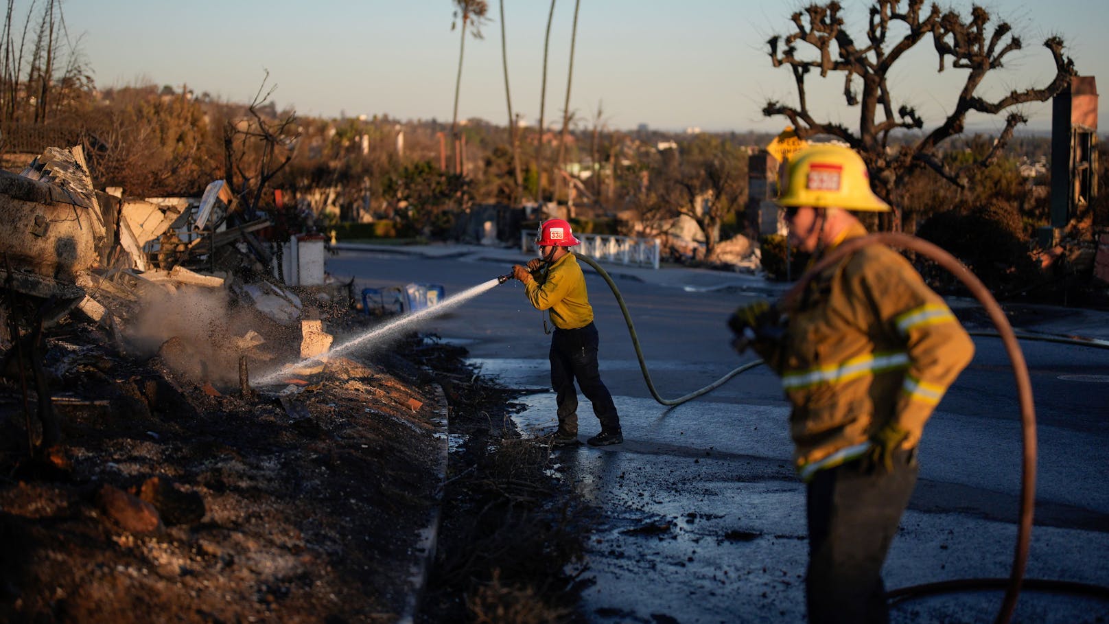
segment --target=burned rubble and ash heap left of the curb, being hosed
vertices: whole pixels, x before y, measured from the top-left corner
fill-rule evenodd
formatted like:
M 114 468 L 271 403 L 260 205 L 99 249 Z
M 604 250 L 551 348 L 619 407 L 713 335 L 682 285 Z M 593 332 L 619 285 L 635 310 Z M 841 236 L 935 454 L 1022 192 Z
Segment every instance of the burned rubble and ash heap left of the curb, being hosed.
M 77 149 L 0 171 L 0 621 L 413 608 L 441 391 L 374 356 L 282 371 L 372 319 L 275 279 L 218 198 L 95 192 Z

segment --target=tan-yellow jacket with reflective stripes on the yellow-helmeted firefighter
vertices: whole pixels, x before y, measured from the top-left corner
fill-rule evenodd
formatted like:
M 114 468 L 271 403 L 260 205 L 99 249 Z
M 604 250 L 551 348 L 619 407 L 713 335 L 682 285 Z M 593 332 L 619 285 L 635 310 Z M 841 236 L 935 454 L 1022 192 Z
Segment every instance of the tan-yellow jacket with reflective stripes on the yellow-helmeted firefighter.
M 855 225 L 844 240 L 865 234 Z M 943 299 L 885 245 L 866 245 L 815 275 L 786 323 L 780 340 L 753 346 L 782 376 L 805 481 L 862 456 L 888 422 L 908 432 L 903 447 L 914 447 L 974 355 Z

